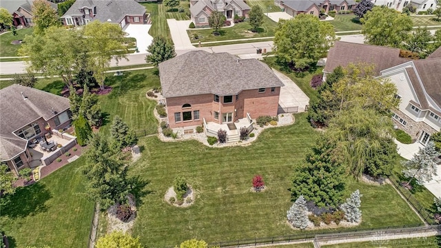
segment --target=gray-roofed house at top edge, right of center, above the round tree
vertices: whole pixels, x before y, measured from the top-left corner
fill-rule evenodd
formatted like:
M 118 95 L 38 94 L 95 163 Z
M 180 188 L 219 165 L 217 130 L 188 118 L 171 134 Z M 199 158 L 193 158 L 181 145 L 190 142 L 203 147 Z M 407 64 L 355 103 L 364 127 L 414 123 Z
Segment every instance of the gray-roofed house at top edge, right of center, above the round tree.
M 274 3 L 293 17 L 298 14 L 313 14 L 318 17 L 320 10 L 328 13 L 333 10 L 353 10 L 356 7 L 356 1 L 353 0 L 276 0 Z

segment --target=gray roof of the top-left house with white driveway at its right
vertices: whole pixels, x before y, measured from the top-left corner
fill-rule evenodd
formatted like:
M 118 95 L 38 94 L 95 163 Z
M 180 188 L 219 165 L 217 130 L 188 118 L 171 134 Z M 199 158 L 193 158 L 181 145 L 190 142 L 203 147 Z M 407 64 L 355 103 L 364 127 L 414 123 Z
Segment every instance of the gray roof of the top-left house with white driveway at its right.
M 134 0 L 76 0 L 63 17 L 83 15 L 80 8 L 96 7 L 96 15 L 92 20 L 119 23 L 127 14 L 143 15 L 145 8 Z

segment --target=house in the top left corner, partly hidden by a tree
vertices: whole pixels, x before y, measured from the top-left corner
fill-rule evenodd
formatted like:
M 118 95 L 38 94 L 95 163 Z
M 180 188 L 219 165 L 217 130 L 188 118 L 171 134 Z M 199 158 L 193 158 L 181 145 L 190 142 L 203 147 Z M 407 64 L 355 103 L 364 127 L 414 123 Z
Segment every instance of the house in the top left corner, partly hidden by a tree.
M 33 3 L 34 0 L 1 0 L 0 8 L 6 8 L 12 14 L 14 26 L 32 26 L 34 25 Z M 51 3 L 50 1 L 48 3 L 54 10 L 58 11 L 56 3 Z

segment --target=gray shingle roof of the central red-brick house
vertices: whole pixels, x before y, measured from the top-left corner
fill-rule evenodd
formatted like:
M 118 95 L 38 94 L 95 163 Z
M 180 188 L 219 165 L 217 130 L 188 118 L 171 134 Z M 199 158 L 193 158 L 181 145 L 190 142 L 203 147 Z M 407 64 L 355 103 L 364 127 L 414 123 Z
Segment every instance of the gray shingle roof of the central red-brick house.
M 256 59 L 239 59 L 226 52 L 187 52 L 159 64 L 163 96 L 238 94 L 242 90 L 281 87 L 271 68 Z

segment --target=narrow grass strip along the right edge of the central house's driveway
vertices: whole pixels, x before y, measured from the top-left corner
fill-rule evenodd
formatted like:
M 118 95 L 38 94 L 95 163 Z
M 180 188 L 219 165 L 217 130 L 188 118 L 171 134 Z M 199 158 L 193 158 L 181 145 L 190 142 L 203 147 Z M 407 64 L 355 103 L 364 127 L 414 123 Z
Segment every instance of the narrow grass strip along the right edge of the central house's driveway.
M 278 70 L 279 72 L 283 72 L 283 74 L 287 75 L 300 89 L 305 92 L 305 94 L 309 97 L 309 99 L 316 99 L 318 97 L 318 93 L 311 87 L 311 79 L 315 74 L 322 74 L 323 68 L 311 68 L 311 70 L 302 73 L 293 72 L 291 69 L 287 68 L 287 66 L 281 66 L 276 63 L 276 57 L 266 57 L 265 63 L 267 63 L 271 68 Z

